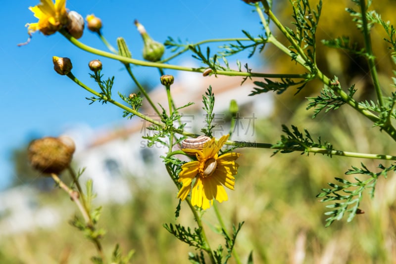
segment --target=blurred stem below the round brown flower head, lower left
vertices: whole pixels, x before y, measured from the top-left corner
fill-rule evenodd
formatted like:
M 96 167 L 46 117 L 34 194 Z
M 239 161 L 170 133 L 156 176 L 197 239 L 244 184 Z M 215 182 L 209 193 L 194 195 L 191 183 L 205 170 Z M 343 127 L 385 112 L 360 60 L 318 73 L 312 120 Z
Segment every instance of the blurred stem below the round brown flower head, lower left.
M 69 167 L 69 171 L 71 171 L 70 167 Z M 91 216 L 89 214 L 89 211 L 87 210 L 87 208 L 85 206 L 83 206 L 80 203 L 80 200 L 78 199 L 78 195 L 76 195 L 75 192 L 72 189 L 70 189 L 56 174 L 52 173 L 51 177 L 56 182 L 56 184 L 58 184 L 59 187 L 62 188 L 70 196 L 70 198 L 73 200 L 73 202 L 76 203 L 78 209 L 80 210 L 81 214 L 83 215 L 83 218 L 84 218 L 85 222 L 88 224 L 88 227 L 91 230 L 95 230 L 95 228 L 93 226 L 93 222 L 92 222 Z M 73 179 L 74 178 L 75 177 L 73 177 Z M 79 184 L 77 185 L 78 181 L 75 180 L 75 182 L 76 182 L 76 186 L 78 188 L 78 186 L 79 186 Z M 81 186 L 80 186 L 80 188 L 81 188 Z M 82 192 L 80 192 L 80 196 L 83 196 Z M 83 197 L 82 197 L 82 201 L 84 202 L 84 198 Z M 99 253 L 100 258 L 102 259 L 103 263 L 106 263 L 105 257 L 104 257 L 104 254 L 103 254 L 103 248 L 102 248 L 102 245 L 101 245 L 99 239 L 98 238 L 91 238 L 91 239 L 94 242 L 94 244 L 95 244 L 95 246 L 96 246 L 96 248 L 98 250 L 98 253 Z

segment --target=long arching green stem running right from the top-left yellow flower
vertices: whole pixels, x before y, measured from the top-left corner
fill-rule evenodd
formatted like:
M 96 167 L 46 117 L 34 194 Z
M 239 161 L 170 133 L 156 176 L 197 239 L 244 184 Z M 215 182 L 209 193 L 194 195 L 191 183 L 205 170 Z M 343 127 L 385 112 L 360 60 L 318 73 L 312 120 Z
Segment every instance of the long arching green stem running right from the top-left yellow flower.
M 97 48 L 90 47 L 86 44 L 83 44 L 70 36 L 65 30 L 60 30 L 59 31 L 63 36 L 66 37 L 72 44 L 75 46 L 93 53 L 97 54 L 99 56 L 107 57 L 110 59 L 115 59 L 118 60 L 122 63 L 131 63 L 135 65 L 140 65 L 140 66 L 147 66 L 147 67 L 154 67 L 154 68 L 164 68 L 164 69 L 172 69 L 172 70 L 179 70 L 179 71 L 187 71 L 187 72 L 198 72 L 198 73 L 203 73 L 205 69 L 198 69 L 198 68 L 189 68 L 189 67 L 184 67 L 184 66 L 179 66 L 179 65 L 172 65 L 172 64 L 163 64 L 163 63 L 158 63 L 158 62 L 149 62 L 149 61 L 143 61 L 143 60 L 138 60 L 138 59 L 133 59 L 133 58 L 128 58 L 124 56 L 120 56 L 117 54 L 109 53 Z M 248 72 L 240 72 L 240 71 L 216 71 L 217 75 L 226 75 L 226 76 L 243 76 L 243 77 L 263 77 L 263 78 L 308 78 L 310 75 L 307 74 L 266 74 L 266 73 L 248 73 Z

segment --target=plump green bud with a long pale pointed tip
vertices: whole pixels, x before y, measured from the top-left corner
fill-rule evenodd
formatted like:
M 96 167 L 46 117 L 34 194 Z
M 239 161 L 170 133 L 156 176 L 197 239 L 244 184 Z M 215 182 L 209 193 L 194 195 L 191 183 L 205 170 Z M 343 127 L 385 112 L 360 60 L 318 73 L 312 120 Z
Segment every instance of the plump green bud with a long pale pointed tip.
M 135 20 L 135 26 L 138 28 L 138 31 L 143 38 L 143 58 L 151 62 L 159 61 L 164 54 L 165 46 L 152 40 L 150 36 L 148 36 L 145 27 L 140 24 L 138 20 Z

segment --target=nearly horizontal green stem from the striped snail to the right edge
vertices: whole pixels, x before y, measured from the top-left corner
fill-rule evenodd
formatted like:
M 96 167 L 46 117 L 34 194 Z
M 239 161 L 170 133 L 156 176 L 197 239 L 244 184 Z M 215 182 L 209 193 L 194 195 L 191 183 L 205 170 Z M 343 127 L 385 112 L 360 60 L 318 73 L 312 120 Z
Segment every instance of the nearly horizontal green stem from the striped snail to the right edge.
M 349 152 L 342 150 L 328 150 L 325 148 L 318 147 L 292 147 L 292 148 L 282 148 L 277 147 L 275 144 L 268 143 L 256 143 L 256 142 L 243 142 L 243 141 L 227 141 L 226 145 L 237 146 L 239 148 L 269 148 L 269 149 L 282 149 L 288 151 L 306 151 L 311 153 L 319 153 L 330 156 L 344 156 L 351 158 L 363 158 L 363 159 L 376 159 L 376 160 L 396 160 L 396 156 L 384 155 L 384 154 L 368 154 L 368 153 L 358 153 L 358 152 Z

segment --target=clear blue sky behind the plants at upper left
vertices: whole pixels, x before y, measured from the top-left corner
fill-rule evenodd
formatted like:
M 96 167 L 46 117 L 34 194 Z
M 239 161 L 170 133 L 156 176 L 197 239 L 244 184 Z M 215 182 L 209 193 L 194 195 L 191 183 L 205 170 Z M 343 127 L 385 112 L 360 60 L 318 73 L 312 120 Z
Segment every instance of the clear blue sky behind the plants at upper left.
M 95 129 L 122 120 L 122 110 L 112 105 L 89 105 L 85 99 L 91 96 L 88 92 L 53 71 L 52 56 L 69 57 L 74 75 L 87 84 L 92 84 L 88 62 L 99 58 L 106 70 L 104 73 L 116 76 L 117 90 L 127 92 L 133 85 L 119 62 L 80 50 L 60 34 L 44 36 L 37 32 L 30 44 L 18 47 L 17 44 L 25 42 L 28 36 L 24 25 L 37 22 L 28 7 L 38 2 L 6 1 L 1 8 L 0 23 L 4 26 L 0 42 L 0 189 L 13 177 L 11 150 L 26 146 L 32 137 L 57 136 L 76 124 L 87 124 Z M 134 19 L 138 19 L 159 42 L 164 42 L 168 36 L 191 43 L 244 37 L 242 29 L 248 29 L 253 36 L 263 33 L 257 14 L 242 0 L 67 0 L 66 7 L 83 17 L 91 13 L 100 17 L 105 38 L 116 45 L 116 38 L 123 37 L 133 57 L 138 59 L 142 58 L 143 43 Z M 87 29 L 80 41 L 105 49 L 99 38 Z M 169 50 L 165 52 L 165 56 L 170 54 Z M 171 61 L 178 62 L 180 59 Z M 134 73 L 149 86 L 158 83 L 156 69 L 140 67 Z

